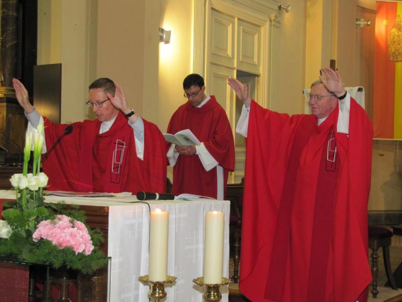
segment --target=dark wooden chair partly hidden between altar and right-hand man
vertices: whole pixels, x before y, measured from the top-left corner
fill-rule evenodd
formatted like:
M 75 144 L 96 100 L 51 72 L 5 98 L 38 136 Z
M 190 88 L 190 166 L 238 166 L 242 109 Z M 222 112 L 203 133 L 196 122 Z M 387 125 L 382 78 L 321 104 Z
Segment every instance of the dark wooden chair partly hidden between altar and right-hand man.
M 226 187 L 225 200 L 230 200 L 230 237 L 231 249 L 233 249 L 233 282 L 239 282 L 239 263 L 240 263 L 240 247 L 241 247 L 241 230 L 242 230 L 242 208 L 243 208 L 243 189 L 244 178 L 241 183 L 228 184 Z

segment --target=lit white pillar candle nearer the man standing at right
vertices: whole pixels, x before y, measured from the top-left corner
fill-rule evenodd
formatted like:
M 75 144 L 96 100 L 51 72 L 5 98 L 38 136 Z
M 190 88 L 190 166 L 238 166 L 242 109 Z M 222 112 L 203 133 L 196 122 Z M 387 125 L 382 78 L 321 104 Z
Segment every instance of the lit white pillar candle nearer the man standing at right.
M 207 212 L 205 216 L 204 283 L 222 283 L 223 212 Z

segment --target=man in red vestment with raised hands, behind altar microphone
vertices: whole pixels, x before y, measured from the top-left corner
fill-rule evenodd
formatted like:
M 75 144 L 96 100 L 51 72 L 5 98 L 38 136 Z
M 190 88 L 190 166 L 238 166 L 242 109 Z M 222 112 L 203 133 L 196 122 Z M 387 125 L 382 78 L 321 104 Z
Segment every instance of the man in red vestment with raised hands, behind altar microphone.
M 42 117 L 29 103 L 28 92 L 13 80 L 17 100 L 36 127 Z M 95 120 L 72 123 L 43 162 L 50 190 L 78 192 L 165 192 L 166 143 L 156 125 L 142 119 L 126 102 L 122 88 L 108 78 L 89 86 Z M 66 125 L 44 118 L 45 150 L 65 132 Z

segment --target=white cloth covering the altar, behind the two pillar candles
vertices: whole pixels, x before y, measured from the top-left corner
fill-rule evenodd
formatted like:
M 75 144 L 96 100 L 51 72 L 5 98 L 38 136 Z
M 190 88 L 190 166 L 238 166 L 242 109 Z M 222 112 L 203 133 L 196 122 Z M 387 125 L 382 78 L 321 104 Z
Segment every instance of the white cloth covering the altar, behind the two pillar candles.
M 0 198 L 15 198 L 15 192 L 0 190 Z M 92 205 L 106 208 L 108 215 L 108 256 L 111 257 L 110 301 L 148 302 L 149 286 L 138 281 L 148 274 L 149 209 L 135 196 L 58 197 L 46 196 L 46 202 Z M 223 276 L 229 277 L 230 202 L 204 199 L 149 200 L 151 210 L 169 212 L 167 273 L 176 282 L 165 287 L 166 302 L 202 302 L 203 288 L 192 282 L 203 275 L 204 226 L 207 211 L 225 213 Z M 228 301 L 228 287 L 221 287 L 222 301 Z

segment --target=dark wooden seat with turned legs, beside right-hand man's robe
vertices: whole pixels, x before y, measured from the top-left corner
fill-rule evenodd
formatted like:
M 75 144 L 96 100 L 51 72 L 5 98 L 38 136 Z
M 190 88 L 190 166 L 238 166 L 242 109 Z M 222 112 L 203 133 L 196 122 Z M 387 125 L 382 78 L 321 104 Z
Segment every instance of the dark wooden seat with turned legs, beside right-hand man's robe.
M 392 289 L 397 289 L 395 280 L 391 271 L 391 262 L 389 258 L 389 246 L 391 245 L 392 232 L 382 226 L 368 227 L 368 247 L 371 253 L 371 274 L 373 277 L 371 293 L 373 298 L 377 297 L 377 277 L 378 277 L 378 249 L 382 248 L 382 256 L 384 259 L 385 273 Z

